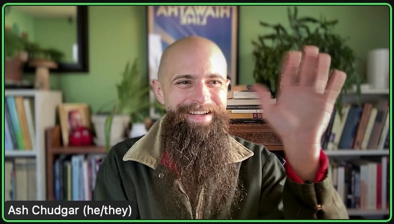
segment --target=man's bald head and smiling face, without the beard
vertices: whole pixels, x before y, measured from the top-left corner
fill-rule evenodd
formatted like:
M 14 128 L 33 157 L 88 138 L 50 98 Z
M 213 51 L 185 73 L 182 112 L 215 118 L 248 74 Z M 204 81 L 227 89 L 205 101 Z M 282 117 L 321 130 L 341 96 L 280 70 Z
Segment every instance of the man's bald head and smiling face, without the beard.
M 163 52 L 152 87 L 166 110 L 190 104 L 225 108 L 229 83 L 220 48 L 209 39 L 192 36 L 177 40 Z M 211 118 L 212 114 L 193 116 L 195 121 Z

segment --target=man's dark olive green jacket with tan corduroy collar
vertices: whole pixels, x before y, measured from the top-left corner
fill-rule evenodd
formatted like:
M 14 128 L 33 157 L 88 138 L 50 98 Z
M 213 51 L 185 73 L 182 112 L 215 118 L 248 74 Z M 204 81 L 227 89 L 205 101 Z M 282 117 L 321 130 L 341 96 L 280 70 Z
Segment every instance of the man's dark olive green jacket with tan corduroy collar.
M 111 149 L 98 170 L 94 200 L 134 201 L 138 219 L 349 218 L 331 178 L 319 183 L 293 182 L 286 178 L 285 169 L 274 153 L 231 135 L 231 162 L 238 164 L 246 194 L 231 214 L 207 216 L 202 206 L 197 205 L 197 209 L 190 206 L 176 179 L 172 184 L 164 181 L 160 164 L 161 121 L 143 137 L 123 141 Z M 168 198 L 176 198 L 177 206 L 169 203 Z

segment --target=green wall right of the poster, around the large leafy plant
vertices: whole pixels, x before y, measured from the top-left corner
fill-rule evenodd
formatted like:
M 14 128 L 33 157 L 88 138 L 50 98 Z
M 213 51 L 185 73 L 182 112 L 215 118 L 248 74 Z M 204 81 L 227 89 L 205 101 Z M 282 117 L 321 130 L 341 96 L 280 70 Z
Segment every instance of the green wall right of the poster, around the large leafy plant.
M 289 6 L 242 6 L 239 19 L 238 66 L 240 84 L 252 84 L 254 62 L 252 40 L 271 33 L 259 21 L 281 23 L 289 28 Z M 310 16 L 327 20 L 337 19 L 334 32 L 348 38 L 347 44 L 359 59 L 358 70 L 365 74 L 366 56 L 374 48 L 389 48 L 390 9 L 388 6 L 298 6 L 298 17 Z

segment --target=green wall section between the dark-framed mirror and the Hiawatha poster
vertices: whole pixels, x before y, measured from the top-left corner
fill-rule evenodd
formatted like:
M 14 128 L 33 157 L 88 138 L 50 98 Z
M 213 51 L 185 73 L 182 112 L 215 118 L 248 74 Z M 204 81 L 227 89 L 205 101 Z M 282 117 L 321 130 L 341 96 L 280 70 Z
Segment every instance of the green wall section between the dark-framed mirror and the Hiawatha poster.
M 128 61 L 138 58 L 146 74 L 144 6 L 89 6 L 89 73 L 51 75 L 51 87 L 64 102 L 87 102 L 92 112 L 109 111 L 117 99 L 116 84 Z

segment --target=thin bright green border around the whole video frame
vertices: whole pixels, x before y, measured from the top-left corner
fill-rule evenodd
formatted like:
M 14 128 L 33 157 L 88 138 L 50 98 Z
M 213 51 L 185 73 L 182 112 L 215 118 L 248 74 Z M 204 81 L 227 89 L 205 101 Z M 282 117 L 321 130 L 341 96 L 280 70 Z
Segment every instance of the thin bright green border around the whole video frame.
M 3 4 L 1 8 L 1 49 L 2 49 L 2 58 L 4 58 L 4 8 L 7 5 L 87 5 L 87 6 L 94 6 L 94 5 L 238 5 L 238 6 L 243 6 L 243 5 L 387 5 L 390 8 L 390 102 L 393 101 L 393 95 L 392 95 L 392 75 L 393 75 L 393 67 L 392 67 L 392 60 L 393 60 L 393 42 L 392 42 L 392 26 L 393 26 L 393 9 L 389 3 L 382 3 L 382 2 L 370 2 L 370 3 L 249 3 L 249 2 L 244 2 L 244 3 L 193 3 L 193 2 L 187 2 L 187 3 L 151 3 L 151 2 L 145 2 L 145 3 L 89 3 L 89 2 L 78 2 L 78 3 L 36 3 L 36 2 L 26 2 L 26 3 L 5 3 Z M 1 62 L 2 64 L 2 71 L 1 71 L 1 78 L 4 80 L 4 60 Z M 2 98 L 4 99 L 4 82 L 2 82 Z M 392 105 L 390 105 L 390 120 L 392 120 Z M 1 131 L 4 133 L 4 100 L 2 100 L 1 103 Z M 390 125 L 390 136 L 393 136 L 393 130 L 392 126 Z M 4 222 L 316 222 L 316 220 L 6 220 L 4 218 L 4 134 L 2 134 L 1 137 L 2 140 L 2 153 L 1 153 L 1 168 L 2 168 L 2 173 L 1 173 L 1 217 Z M 389 154 L 389 161 L 392 160 L 392 138 L 390 138 L 390 154 Z M 393 163 L 390 162 L 390 172 L 393 170 Z M 392 174 L 392 173 L 391 173 Z M 393 183 L 393 175 L 390 175 L 390 183 Z M 393 195 L 393 188 L 392 185 L 390 185 L 390 195 Z M 390 208 L 389 208 L 389 219 L 387 220 L 318 220 L 317 222 L 389 222 L 392 220 L 393 214 L 392 214 L 392 207 L 393 207 L 393 197 L 390 197 Z

